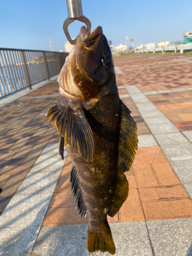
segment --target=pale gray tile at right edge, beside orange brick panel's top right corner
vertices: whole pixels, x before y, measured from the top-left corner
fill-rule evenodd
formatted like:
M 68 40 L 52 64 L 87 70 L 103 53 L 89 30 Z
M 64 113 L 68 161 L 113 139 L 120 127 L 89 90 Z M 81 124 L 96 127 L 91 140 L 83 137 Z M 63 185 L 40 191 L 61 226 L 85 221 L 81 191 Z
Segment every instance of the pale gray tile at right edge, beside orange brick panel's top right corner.
M 162 151 L 169 161 L 192 159 L 192 144 L 174 144 L 161 146 Z

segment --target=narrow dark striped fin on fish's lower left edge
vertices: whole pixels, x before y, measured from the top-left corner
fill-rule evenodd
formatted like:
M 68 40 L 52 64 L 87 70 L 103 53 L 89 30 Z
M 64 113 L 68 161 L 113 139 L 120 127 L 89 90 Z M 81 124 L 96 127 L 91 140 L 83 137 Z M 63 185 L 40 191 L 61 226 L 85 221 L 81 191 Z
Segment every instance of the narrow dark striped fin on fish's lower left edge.
M 86 202 L 84 202 L 79 177 L 74 165 L 71 168 L 70 183 L 78 215 L 80 216 L 80 218 L 84 218 L 87 215 L 88 209 L 86 206 Z

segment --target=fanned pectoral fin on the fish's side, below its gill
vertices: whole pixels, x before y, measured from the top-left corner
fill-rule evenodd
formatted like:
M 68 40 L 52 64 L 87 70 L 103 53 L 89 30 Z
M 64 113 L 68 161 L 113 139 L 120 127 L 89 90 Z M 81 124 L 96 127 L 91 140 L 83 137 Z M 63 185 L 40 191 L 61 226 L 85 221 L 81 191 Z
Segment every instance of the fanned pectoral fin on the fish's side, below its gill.
M 55 105 L 50 108 L 46 118 L 50 116 L 49 123 L 54 121 L 58 131 L 59 154 L 63 155 L 63 146 L 69 144 L 79 152 L 82 158 L 91 160 L 94 154 L 94 139 L 91 127 L 79 104 Z

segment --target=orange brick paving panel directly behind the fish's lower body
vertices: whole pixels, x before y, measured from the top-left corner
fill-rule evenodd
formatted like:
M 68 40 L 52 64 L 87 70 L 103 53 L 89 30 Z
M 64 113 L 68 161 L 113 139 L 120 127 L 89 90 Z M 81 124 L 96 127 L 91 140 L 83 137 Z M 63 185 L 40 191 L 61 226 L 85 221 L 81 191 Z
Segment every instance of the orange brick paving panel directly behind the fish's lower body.
M 49 205 L 44 226 L 89 221 L 88 216 L 79 219 L 71 196 L 71 166 L 68 157 Z M 139 148 L 133 167 L 125 175 L 130 185 L 129 197 L 118 214 L 113 219 L 109 218 L 110 222 L 192 217 L 192 201 L 159 146 Z

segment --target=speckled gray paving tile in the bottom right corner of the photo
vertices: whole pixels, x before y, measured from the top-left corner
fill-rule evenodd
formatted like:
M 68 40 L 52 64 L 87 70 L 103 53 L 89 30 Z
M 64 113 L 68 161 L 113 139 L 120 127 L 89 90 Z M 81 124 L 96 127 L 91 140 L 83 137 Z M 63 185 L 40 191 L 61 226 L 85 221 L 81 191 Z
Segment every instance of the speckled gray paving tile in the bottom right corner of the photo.
M 192 218 L 147 221 L 147 226 L 155 256 L 192 255 Z

